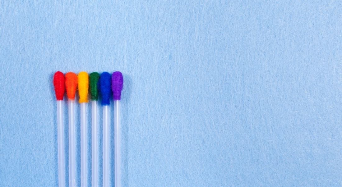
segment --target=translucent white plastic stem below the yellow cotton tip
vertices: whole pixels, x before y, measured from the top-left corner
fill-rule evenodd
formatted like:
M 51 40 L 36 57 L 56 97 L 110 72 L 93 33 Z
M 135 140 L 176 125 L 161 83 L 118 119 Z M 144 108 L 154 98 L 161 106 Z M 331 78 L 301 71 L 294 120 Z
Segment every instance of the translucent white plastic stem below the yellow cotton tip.
M 88 186 L 87 103 L 81 103 L 81 187 Z

